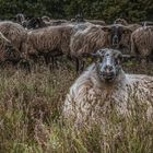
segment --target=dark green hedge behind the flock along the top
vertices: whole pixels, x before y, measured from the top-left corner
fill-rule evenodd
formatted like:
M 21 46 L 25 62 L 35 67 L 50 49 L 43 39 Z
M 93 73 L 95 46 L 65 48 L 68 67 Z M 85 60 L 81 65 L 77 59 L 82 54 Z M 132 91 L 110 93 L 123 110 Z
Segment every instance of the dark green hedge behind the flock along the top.
M 0 19 L 16 13 L 27 16 L 48 15 L 52 19 L 71 19 L 82 12 L 86 19 L 111 22 L 125 17 L 129 22 L 153 20 L 152 0 L 0 0 Z

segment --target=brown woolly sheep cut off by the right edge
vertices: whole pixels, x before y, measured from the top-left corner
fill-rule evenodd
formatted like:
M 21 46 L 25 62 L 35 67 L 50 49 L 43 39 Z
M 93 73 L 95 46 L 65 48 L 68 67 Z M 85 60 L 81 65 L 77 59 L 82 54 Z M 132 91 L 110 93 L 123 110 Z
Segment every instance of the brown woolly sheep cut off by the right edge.
M 131 55 L 150 59 L 153 56 L 153 26 L 143 26 L 131 35 Z

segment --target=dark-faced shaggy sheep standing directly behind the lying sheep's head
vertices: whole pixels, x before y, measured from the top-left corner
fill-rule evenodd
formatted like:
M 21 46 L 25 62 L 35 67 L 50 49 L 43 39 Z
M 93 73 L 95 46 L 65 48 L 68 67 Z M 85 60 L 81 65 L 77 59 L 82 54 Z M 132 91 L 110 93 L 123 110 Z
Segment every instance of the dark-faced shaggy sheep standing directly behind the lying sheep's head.
M 102 47 L 119 48 L 122 52 L 130 52 L 131 30 L 121 24 L 107 26 L 89 25 L 84 31 L 79 31 L 71 37 L 71 55 L 79 58 L 76 71 L 83 70 L 83 57 Z M 126 48 L 126 49 L 125 49 Z M 83 62 L 79 68 L 79 62 Z

